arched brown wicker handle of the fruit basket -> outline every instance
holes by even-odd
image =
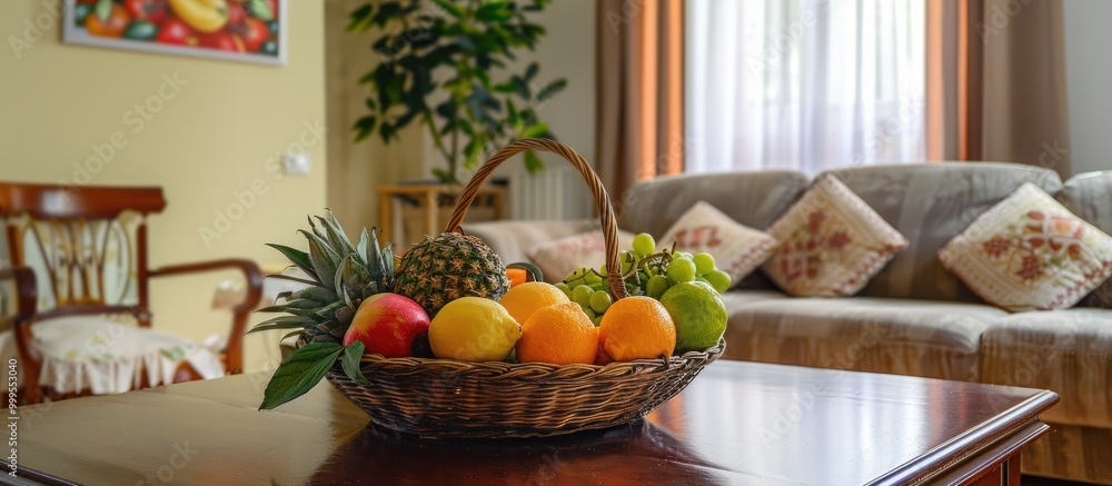
[[[471,180],[467,182],[467,187],[464,188],[463,194],[459,196],[459,200],[456,202],[455,209],[451,211],[451,219],[448,220],[448,227],[445,231],[463,232],[459,225],[464,221],[464,216],[467,216],[467,208],[471,206],[475,195],[478,192],[479,187],[483,186],[486,178],[489,177],[490,172],[494,172],[494,169],[502,165],[502,162],[525,150],[546,150],[554,152],[563,157],[579,170],[579,175],[583,176],[583,180],[587,182],[587,186],[590,188],[590,194],[595,197],[595,210],[598,212],[603,222],[603,239],[606,244],[607,286],[609,287],[610,294],[614,295],[615,299],[629,297],[629,292],[627,292],[625,288],[625,281],[622,280],[622,266],[618,264],[618,227],[614,218],[614,207],[610,206],[610,197],[606,194],[606,188],[603,187],[603,182],[598,180],[598,176],[590,169],[590,165],[584,160],[583,156],[570,147],[556,140],[547,138],[523,138],[504,147],[502,150],[498,150],[494,157],[490,157],[490,160],[487,160],[483,167],[479,167],[479,170],[475,172],[475,177],[471,177]]]

